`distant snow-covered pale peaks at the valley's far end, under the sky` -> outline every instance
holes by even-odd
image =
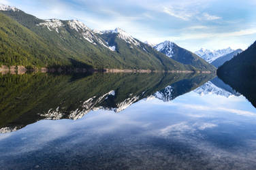
[[[234,50],[231,48],[226,48],[223,50],[207,50],[207,49],[201,48],[200,50],[196,51],[195,54],[203,58],[208,63],[212,63],[212,61],[216,60],[217,58],[221,56],[225,56],[231,52],[234,52]]]

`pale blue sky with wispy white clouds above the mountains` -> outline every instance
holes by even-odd
[[[119,27],[151,44],[174,41],[195,52],[256,40],[256,0],[0,0],[37,18],[77,19],[91,29]]]

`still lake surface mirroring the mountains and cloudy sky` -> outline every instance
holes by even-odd
[[[0,169],[255,169],[256,109],[215,75],[0,75]]]

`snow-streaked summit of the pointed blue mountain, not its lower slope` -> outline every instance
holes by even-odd
[[[175,45],[176,44],[174,44],[174,42],[172,42],[172,41],[164,41],[160,44],[157,44],[157,46],[155,46],[154,48],[157,51],[162,52],[166,56],[173,57]]]

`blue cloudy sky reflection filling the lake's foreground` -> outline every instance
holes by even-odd
[[[2,134],[0,168],[254,169],[255,120],[242,95],[150,95],[120,114],[98,109]]]

